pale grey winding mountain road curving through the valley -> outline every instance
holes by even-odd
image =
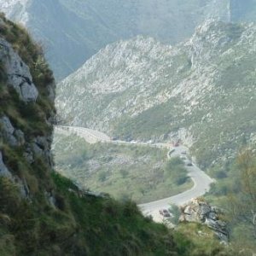
[[[179,157],[183,151],[188,151],[188,148],[181,145],[176,148],[172,148],[171,143],[140,143],[140,142],[124,142],[124,141],[118,141],[118,140],[112,140],[110,137],[108,137],[106,134],[100,132],[100,131],[94,131],[90,130],[84,127],[77,127],[77,126],[55,126],[55,132],[70,135],[72,133],[75,133],[79,137],[83,137],[84,140],[88,143],[118,143],[118,144],[137,144],[137,145],[148,145],[155,148],[168,148],[168,154],[167,157]],[[188,160],[185,160],[185,164]],[[194,182],[194,186],[192,189],[189,189],[187,191],[184,191],[183,193],[180,193],[178,195],[173,195],[171,197],[167,197],[158,201],[151,201],[148,203],[140,204],[138,207],[140,207],[141,211],[144,215],[151,215],[154,221],[156,222],[163,222],[164,218],[162,215],[160,215],[159,211],[160,209],[166,209],[170,207],[170,204],[175,204],[177,206],[182,206],[186,202],[190,201],[193,198],[199,197],[201,195],[204,195],[209,189],[211,183],[213,183],[213,179],[201,169],[195,165],[195,163],[192,164],[192,166],[185,166],[188,171],[188,176],[191,177],[191,179]]]

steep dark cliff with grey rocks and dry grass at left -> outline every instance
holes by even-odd
[[[2,15],[0,64],[0,177],[15,183],[20,197],[31,199],[44,182],[38,169],[42,175],[54,165],[55,81],[38,45]],[[39,91],[44,104],[38,102]]]

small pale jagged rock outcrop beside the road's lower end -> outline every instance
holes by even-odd
[[[218,207],[211,207],[206,201],[194,199],[181,207],[180,222],[196,222],[205,224],[218,236],[219,240],[228,242],[229,231],[227,223],[219,219],[222,210]]]

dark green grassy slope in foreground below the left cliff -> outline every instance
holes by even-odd
[[[18,188],[0,178],[1,212],[9,219],[3,224],[0,216],[1,255],[169,255],[175,251],[171,231],[143,218],[135,203],[81,197],[66,178],[55,173],[51,178],[56,209],[46,201],[38,205],[20,200]]]

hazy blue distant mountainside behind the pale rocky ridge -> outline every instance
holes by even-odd
[[[1,10],[44,42],[58,79],[107,44],[139,34],[162,42],[188,38],[208,17],[230,19],[229,0],[1,0]]]

